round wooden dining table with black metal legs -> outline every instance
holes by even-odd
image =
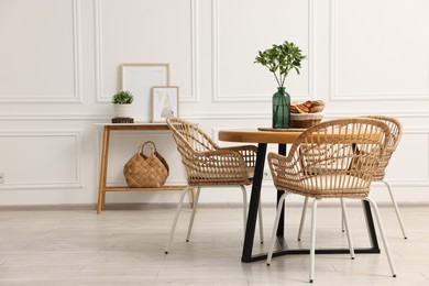
[[[219,131],[219,140],[226,142],[241,142],[241,143],[257,143],[256,164],[252,183],[251,200],[249,205],[248,223],[245,229],[245,237],[243,243],[243,252],[241,256],[242,262],[253,262],[266,258],[266,253],[252,254],[254,233],[256,228],[256,218],[261,198],[261,187],[264,175],[264,165],[266,157],[267,144],[278,144],[278,154],[286,155],[286,144],[294,143],[295,140],[305,131],[305,129],[226,129]],[[283,191],[277,190],[277,201]],[[355,249],[355,253],[380,253],[377,243],[377,237],[375,232],[374,221],[371,213],[371,207],[367,201],[363,201],[364,213],[366,218],[366,227],[370,238],[370,248]],[[280,250],[274,252],[274,256],[286,254],[308,254],[309,250],[304,249],[287,249],[285,241],[284,229],[284,210],[280,216],[280,220],[277,229],[277,240],[279,245],[283,245]],[[349,253],[349,249],[320,249],[316,250],[316,253],[320,254],[337,254]]]

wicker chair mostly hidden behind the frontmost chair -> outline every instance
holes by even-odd
[[[395,209],[395,213],[396,213],[396,217],[398,219],[400,230],[403,232],[403,237],[404,237],[404,239],[407,239],[407,234],[405,232],[403,217],[400,215],[398,205],[397,205],[397,202],[395,200],[395,197],[394,197],[394,195],[392,193],[391,185],[388,184],[387,180],[384,179],[385,172],[386,172],[386,168],[388,166],[388,163],[391,162],[392,155],[395,153],[395,151],[396,151],[396,148],[397,148],[397,146],[399,144],[399,141],[400,141],[400,139],[403,136],[403,124],[396,118],[386,117],[386,116],[366,116],[365,118],[372,118],[372,119],[381,120],[384,123],[386,123],[388,125],[389,130],[391,130],[391,139],[388,141],[387,147],[383,152],[383,155],[382,155],[382,157],[381,157],[381,160],[378,162],[378,167],[375,170],[375,174],[373,176],[373,182],[381,182],[381,183],[383,183],[387,187],[387,190],[388,190],[388,194],[389,194],[389,197],[391,197],[391,200],[392,200],[392,205],[393,205],[393,207]],[[308,199],[306,199],[304,201],[304,206],[302,206],[301,220],[300,220],[299,230],[298,230],[298,241],[300,241],[301,234],[302,234],[302,227],[304,227],[307,205],[308,205]],[[341,222],[342,222],[342,227],[344,227],[343,220]],[[342,229],[344,230],[344,228],[342,228]]]

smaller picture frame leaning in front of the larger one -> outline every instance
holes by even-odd
[[[155,86],[152,88],[152,122],[165,122],[178,117],[178,87]]]

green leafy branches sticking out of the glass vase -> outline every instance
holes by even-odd
[[[273,45],[263,52],[258,51],[254,63],[266,66],[274,74],[278,87],[284,87],[290,70],[295,69],[299,75],[301,61],[305,58],[297,45],[285,41],[280,45]]]

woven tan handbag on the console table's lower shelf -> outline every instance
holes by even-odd
[[[147,147],[151,152],[144,154]],[[155,143],[146,141],[139,146],[135,153],[123,166],[123,175],[129,187],[132,188],[160,188],[168,177],[167,162],[156,151]]]

